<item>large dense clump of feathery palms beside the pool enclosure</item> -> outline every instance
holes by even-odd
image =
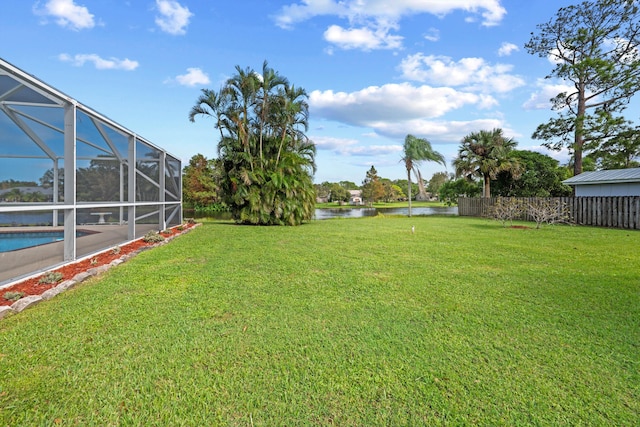
[[[236,66],[218,91],[203,90],[189,120],[213,117],[220,132],[220,191],[237,223],[299,225],[314,214],[316,148],[306,136],[304,89],[266,62]]]

